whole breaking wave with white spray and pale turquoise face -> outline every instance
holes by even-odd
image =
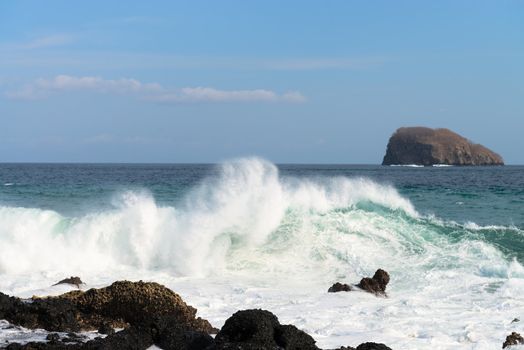
[[[2,207],[0,271],[130,266],[177,276],[246,270],[332,279],[377,264],[401,274],[406,263],[471,273],[486,260],[509,264],[485,242],[443,234],[454,224],[420,217],[393,187],[369,179],[281,177],[257,158],[224,163],[218,174],[176,206],[159,206],[143,190],[115,195],[111,210],[73,218]],[[452,230],[467,237],[471,227]]]

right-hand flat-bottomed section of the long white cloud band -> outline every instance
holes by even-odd
[[[159,102],[304,102],[299,92],[278,95],[271,90],[218,90],[209,87],[188,87],[178,92],[160,94],[149,99]]]

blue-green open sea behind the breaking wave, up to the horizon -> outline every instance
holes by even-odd
[[[391,185],[424,217],[447,222],[434,227],[442,235],[484,240],[524,261],[523,166],[311,164],[278,165],[278,170],[290,182],[322,183],[342,177]],[[219,172],[219,166],[207,164],[1,164],[0,205],[53,210],[74,218],[115,208],[118,193],[145,191],[158,205],[176,207]]]

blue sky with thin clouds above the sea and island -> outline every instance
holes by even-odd
[[[524,1],[0,1],[0,162],[524,164]]]

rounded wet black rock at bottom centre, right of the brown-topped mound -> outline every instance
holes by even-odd
[[[215,337],[216,349],[318,349],[315,340],[295,326],[281,325],[266,310],[243,310],[231,316]]]

